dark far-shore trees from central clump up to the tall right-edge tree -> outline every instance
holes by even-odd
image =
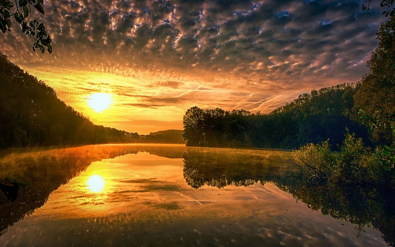
[[[367,141],[367,129],[353,121],[355,84],[313,90],[270,114],[193,107],[184,115],[188,146],[296,148],[330,138],[336,148],[345,128]]]

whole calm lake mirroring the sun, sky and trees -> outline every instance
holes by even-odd
[[[394,196],[289,152],[112,144],[0,158],[0,246],[387,246]]]

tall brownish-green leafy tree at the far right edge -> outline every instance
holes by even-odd
[[[395,141],[395,15],[381,25],[378,47],[368,62],[370,73],[359,83],[354,110],[373,131],[376,142]]]

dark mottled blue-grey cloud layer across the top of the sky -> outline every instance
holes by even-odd
[[[285,81],[325,66],[329,74],[347,70],[360,60],[357,54],[374,49],[372,35],[382,20],[378,12],[361,12],[359,1],[52,0],[46,8],[57,57],[67,52],[66,60],[75,66],[108,68],[128,61],[134,68],[195,66],[237,76],[251,72],[250,64],[259,61],[261,74]],[[370,39],[362,39],[365,35]],[[337,51],[350,63],[332,66]],[[290,68],[309,64],[324,52],[332,55],[316,70]]]

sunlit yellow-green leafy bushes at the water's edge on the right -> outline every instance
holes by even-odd
[[[312,177],[331,184],[379,184],[395,189],[394,167],[383,160],[384,151],[365,147],[361,138],[347,133],[339,152],[331,152],[328,142],[307,144],[292,151],[297,164],[307,167]],[[386,151],[388,152],[388,150]],[[384,155],[388,158],[388,155]],[[393,160],[392,160],[393,162]]]

